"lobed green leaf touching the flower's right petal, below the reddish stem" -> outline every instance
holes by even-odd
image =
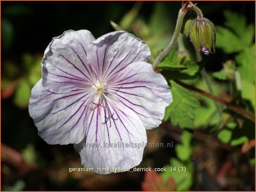
[[[170,83],[173,102],[170,104],[170,109],[167,110],[170,114],[166,115],[165,119],[169,116],[175,126],[194,128],[194,108],[199,107],[200,103],[187,89],[174,81],[170,81]]]

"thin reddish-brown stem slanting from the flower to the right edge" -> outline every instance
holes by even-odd
[[[246,111],[245,109],[242,109],[240,107],[234,106],[234,105],[230,104],[229,102],[227,102],[227,101],[225,101],[225,100],[223,100],[223,99],[221,99],[219,97],[216,97],[216,96],[214,96],[214,95],[212,95],[212,94],[210,94],[208,92],[205,92],[203,90],[195,88],[195,87],[193,87],[191,85],[187,85],[187,84],[185,84],[185,83],[183,83],[181,81],[175,80],[175,82],[178,83],[179,85],[181,85],[184,88],[187,88],[189,90],[198,92],[199,94],[204,95],[204,96],[206,96],[206,97],[208,97],[208,98],[210,98],[210,99],[212,99],[212,100],[214,100],[216,102],[224,104],[228,109],[230,109],[230,110],[232,110],[232,111],[234,111],[236,113],[239,113],[242,116],[244,116],[244,117],[246,117],[248,119],[251,119],[252,121],[255,122],[255,115],[251,114],[250,112]]]

